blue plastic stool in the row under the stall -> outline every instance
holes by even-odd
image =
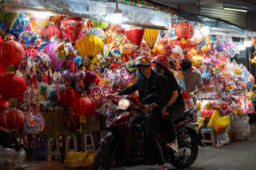
[[[38,140],[43,140],[43,150],[37,150]],[[45,160],[48,161],[48,137],[46,135],[36,135],[35,137],[35,148],[34,148],[34,157],[36,160],[36,156],[45,156]]]

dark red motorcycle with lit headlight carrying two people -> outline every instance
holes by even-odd
[[[143,110],[143,101],[156,97],[158,97],[156,93],[150,94],[139,103],[129,95],[113,95],[112,102],[118,107],[106,119],[107,131],[99,141],[100,146],[95,154],[92,170],[156,164],[150,146],[144,142],[143,128],[137,124],[129,125],[133,110]],[[165,162],[171,163],[176,168],[191,166],[198,155],[198,145],[205,147],[202,142],[204,137],[196,129],[198,124],[192,124],[197,110],[185,110],[183,115],[173,122],[179,146],[177,153],[165,147],[168,139],[164,130],[160,130],[157,135]]]

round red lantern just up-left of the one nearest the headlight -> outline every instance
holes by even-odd
[[[60,104],[66,108],[73,106],[76,99],[81,97],[81,93],[73,88],[66,88],[60,95]]]

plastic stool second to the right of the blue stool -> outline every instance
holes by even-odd
[[[63,144],[65,143],[65,146],[63,148],[65,149],[63,151],[63,158],[67,158],[67,153],[70,151],[77,152],[77,141],[76,141],[76,134],[71,133],[68,135],[65,135],[63,137]]]

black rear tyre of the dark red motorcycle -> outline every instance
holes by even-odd
[[[195,159],[198,156],[198,142],[191,133],[187,132],[186,134],[188,134],[191,139],[191,148],[189,148],[191,150],[191,155],[189,156],[188,159],[184,161],[175,160],[174,162],[171,162],[171,165],[174,166],[175,168],[188,168],[195,162]]]

